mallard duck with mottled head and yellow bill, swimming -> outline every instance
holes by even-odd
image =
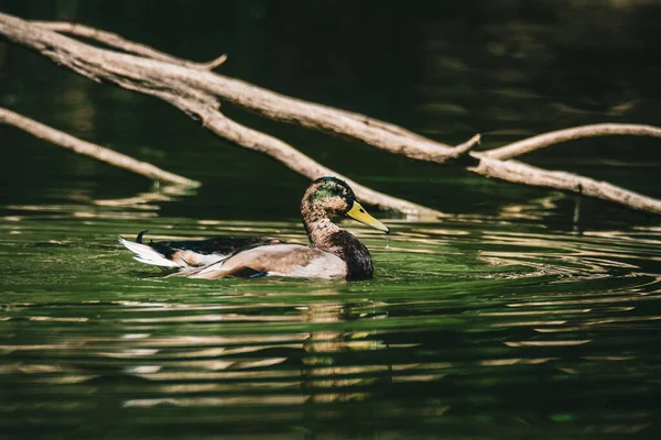
[[[373,275],[371,256],[360,241],[340,229],[334,219],[347,216],[389,233],[356,200],[346,182],[322,177],[312,183],[301,200],[301,217],[310,245],[270,238],[221,237],[197,241],[119,242],[141,263],[175,270],[174,276],[224,278],[291,276],[302,278],[367,279]]]

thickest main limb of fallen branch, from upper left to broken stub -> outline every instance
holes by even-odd
[[[0,13],[0,33],[95,80],[123,78],[122,87],[131,81],[149,81],[155,89],[186,86],[188,92],[195,90],[195,95],[204,95],[206,100],[219,97],[278,121],[348,136],[412,158],[444,163],[455,155],[448,145],[411,135],[411,132],[394,129],[386,122],[285,97],[238,79],[191,69],[181,63],[175,65],[101,50],[11,15]]]

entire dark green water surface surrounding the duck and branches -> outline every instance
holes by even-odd
[[[659,125],[657,1],[9,1],[223,74],[484,147],[598,122]],[[155,99],[0,43],[0,105],[201,180],[150,182],[0,127],[0,439],[658,438],[658,217],[487,180],[262,120],[356,180],[453,213],[346,223],[364,283],[163,279],[116,244],[267,234],[304,242],[306,180]],[[658,140],[525,161],[661,197]],[[162,188],[161,188],[162,190]],[[153,195],[152,194],[152,195]]]

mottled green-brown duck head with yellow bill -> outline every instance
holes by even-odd
[[[360,206],[347,183],[336,177],[319,177],[310,185],[301,201],[301,213],[306,227],[316,221],[350,217],[379,231],[390,232]]]

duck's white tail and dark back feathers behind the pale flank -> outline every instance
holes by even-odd
[[[176,240],[142,242],[147,231],[138,234],[136,242],[119,238],[119,243],[133,252],[133,258],[145,264],[170,268],[205,267],[223,261],[237,252],[283,243],[263,237],[217,237],[207,240]]]

